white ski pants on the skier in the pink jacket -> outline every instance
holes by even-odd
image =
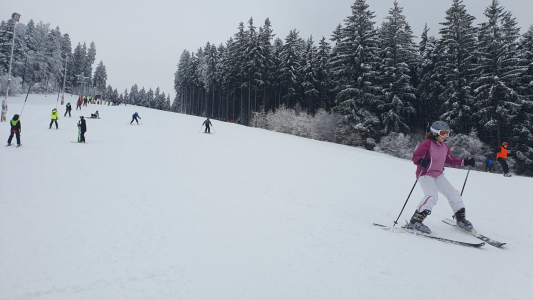
[[[448,179],[444,177],[444,174],[437,178],[427,175],[420,176],[418,183],[424,191],[424,197],[417,206],[418,212],[423,212],[426,209],[433,210],[433,206],[439,200],[439,192],[448,199],[448,203],[450,203],[454,213],[465,207],[461,194],[453,188]]]

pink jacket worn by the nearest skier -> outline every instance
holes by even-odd
[[[418,165],[417,162],[424,157],[429,157],[429,165],[422,171],[422,166]],[[464,165],[464,160],[453,157],[448,144],[433,139],[426,139],[418,145],[415,153],[413,153],[413,163],[416,165],[417,176],[422,171],[420,176],[429,175],[437,178],[444,172],[444,164],[462,166]]]

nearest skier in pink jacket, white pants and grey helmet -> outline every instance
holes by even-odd
[[[424,191],[424,197],[407,225],[408,229],[431,234],[431,230],[422,222],[431,214],[433,206],[437,204],[439,192],[448,199],[455,213],[457,226],[468,231],[474,228],[465,219],[465,206],[461,194],[444,177],[443,171],[445,163],[450,166],[475,167],[476,162],[473,158],[461,159],[453,157],[450,148],[445,143],[446,138],[449,136],[450,127],[448,124],[443,121],[436,121],[431,125],[431,132],[426,134],[426,140],[420,143],[413,153],[413,163],[417,165],[416,174],[420,176],[418,182]]]

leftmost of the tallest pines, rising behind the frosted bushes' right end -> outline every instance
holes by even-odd
[[[356,0],[352,15],[344,21],[340,40],[333,48],[332,77],[336,92],[336,110],[352,128],[361,132],[365,145],[373,148],[380,129],[378,114],[380,93],[373,81],[377,76],[378,36],[375,17],[365,0]]]

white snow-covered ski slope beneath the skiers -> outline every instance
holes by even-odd
[[[372,226],[396,219],[410,161],[216,120],[208,135],[203,118],[136,106],[60,106],[48,129],[56,100],[30,95],[23,146],[0,148],[2,300],[531,299],[531,178],[470,172],[467,218],[507,245],[467,248]],[[446,170],[459,190],[466,174]],[[441,198],[425,223],[480,242],[451,214]]]

